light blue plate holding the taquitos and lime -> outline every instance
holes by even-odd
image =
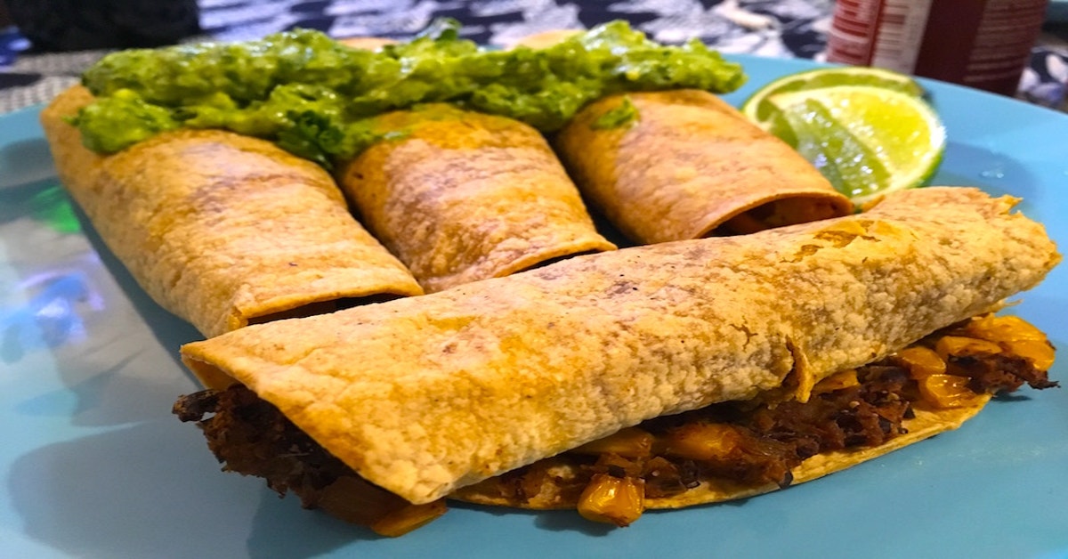
[[[737,57],[759,84],[802,61]],[[925,81],[948,128],[937,183],[1024,199],[1068,246],[1068,117]],[[195,389],[188,325],[153,304],[74,213],[36,111],[0,118],[0,557],[1064,557],[1068,389],[992,403],[958,431],[740,502],[645,514],[454,506],[376,538],[219,471],[171,416]],[[1014,312],[1068,347],[1068,266]],[[1062,360],[1051,375],[1068,383]]]

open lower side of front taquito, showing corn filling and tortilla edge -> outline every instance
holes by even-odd
[[[797,485],[960,426],[994,394],[1058,386],[1054,347],[1017,316],[983,314],[886,358],[845,369],[806,401],[724,402],[644,421],[450,497],[578,509],[618,526],[645,509],[720,502]]]

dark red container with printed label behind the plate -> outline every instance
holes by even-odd
[[[837,0],[827,60],[1012,95],[1049,0]]]

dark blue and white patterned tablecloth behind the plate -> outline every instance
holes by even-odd
[[[724,52],[820,59],[831,0],[200,0],[201,35],[185,41],[256,38],[296,27],[335,37],[405,38],[436,17],[453,17],[467,37],[503,45],[538,31],[627,19],[657,41],[700,37]],[[44,103],[78,81],[106,51],[37,53],[14,28],[0,32],[0,112]],[[1036,46],[1019,96],[1058,106],[1068,48]],[[1063,107],[1063,106],[1062,106]]]

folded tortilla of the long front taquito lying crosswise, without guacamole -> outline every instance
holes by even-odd
[[[619,429],[884,357],[1037,284],[1059,254],[973,188],[753,235],[576,257],[182,348],[411,502]]]

